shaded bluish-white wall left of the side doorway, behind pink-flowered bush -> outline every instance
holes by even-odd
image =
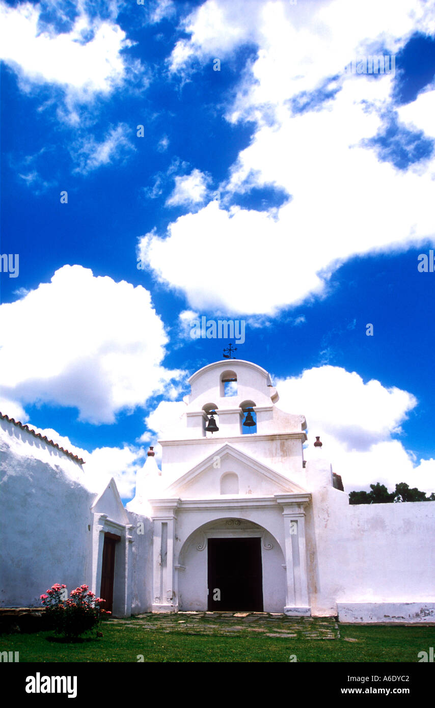
[[[91,503],[78,462],[0,421],[1,607],[40,606],[53,583],[90,583]]]

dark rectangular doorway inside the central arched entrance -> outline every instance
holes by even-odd
[[[261,539],[208,539],[208,610],[263,612]]]

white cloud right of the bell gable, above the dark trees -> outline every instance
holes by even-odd
[[[402,481],[426,493],[435,491],[435,460],[415,465],[413,453],[392,438],[417,406],[412,394],[375,380],[364,384],[356,372],[333,366],[277,380],[276,387],[278,407],[307,418],[305,459],[329,459],[345,491],[369,490],[378,481],[389,491]],[[323,443],[320,452],[313,445],[316,435]]]

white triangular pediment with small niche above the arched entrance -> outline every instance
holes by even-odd
[[[227,477],[225,485],[224,476]],[[237,484],[238,493],[235,491]],[[305,489],[266,464],[259,462],[228,442],[162,491],[162,496],[180,498],[218,498],[225,496],[272,496],[277,493],[303,493]]]

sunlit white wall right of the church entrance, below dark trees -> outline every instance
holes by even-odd
[[[393,615],[402,616],[405,604],[434,607],[435,503],[349,505],[347,494],[329,486],[329,474],[324,461],[307,463],[312,614],[337,615],[337,603],[358,605],[358,621],[390,622]],[[383,603],[388,604],[384,619]]]

